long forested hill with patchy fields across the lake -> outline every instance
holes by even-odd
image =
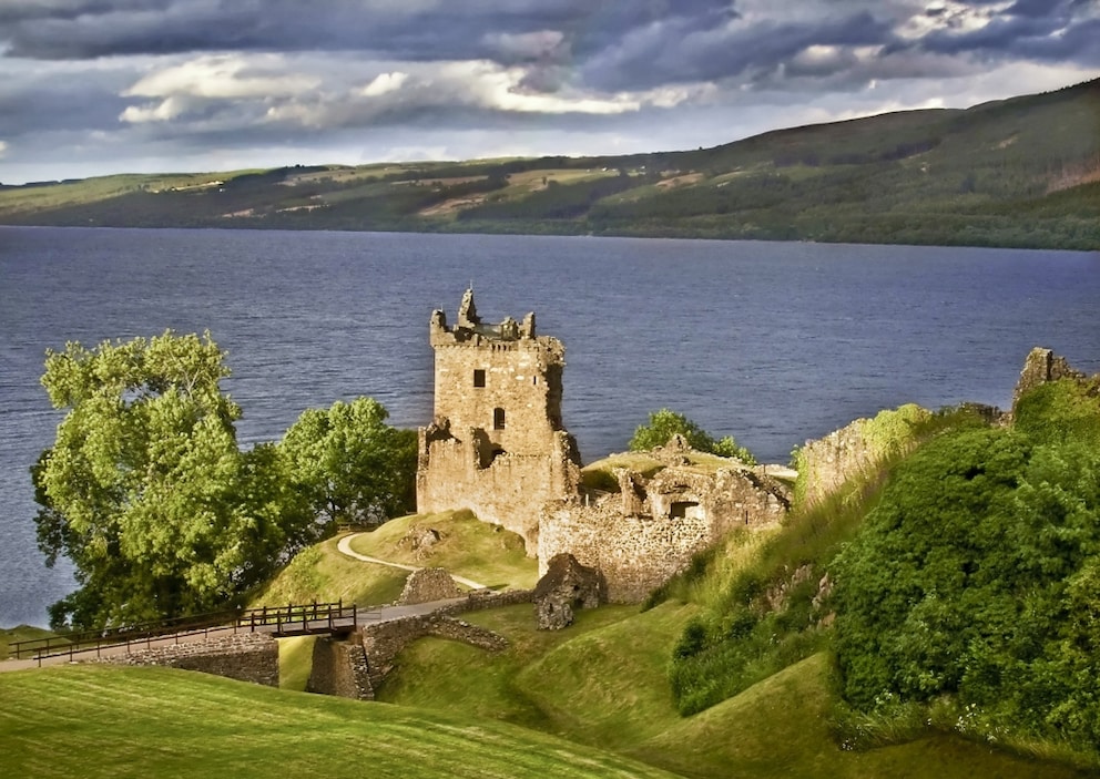
[[[0,186],[0,224],[1100,249],[1100,79],[693,152]]]

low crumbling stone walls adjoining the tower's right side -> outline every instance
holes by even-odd
[[[603,574],[609,601],[638,603],[734,527],[772,525],[790,506],[784,486],[750,470],[673,467],[620,483],[631,489],[544,506],[540,574],[569,553]]]

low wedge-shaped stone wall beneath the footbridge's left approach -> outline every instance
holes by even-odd
[[[156,665],[278,687],[278,644],[265,633],[237,633],[103,658],[118,665]]]

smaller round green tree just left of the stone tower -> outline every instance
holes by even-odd
[[[416,431],[389,427],[388,416],[373,398],[357,398],[309,409],[286,431],[278,449],[318,532],[415,509]]]

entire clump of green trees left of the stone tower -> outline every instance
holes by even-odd
[[[241,409],[220,388],[228,373],[210,334],[48,352],[42,383],[67,413],[31,469],[35,524],[48,564],[69,557],[80,585],[51,606],[51,624],[222,607],[329,520],[355,510],[377,517],[398,505],[395,495],[407,498],[409,433],[383,426],[375,401],[307,412],[283,444],[242,452]]]

